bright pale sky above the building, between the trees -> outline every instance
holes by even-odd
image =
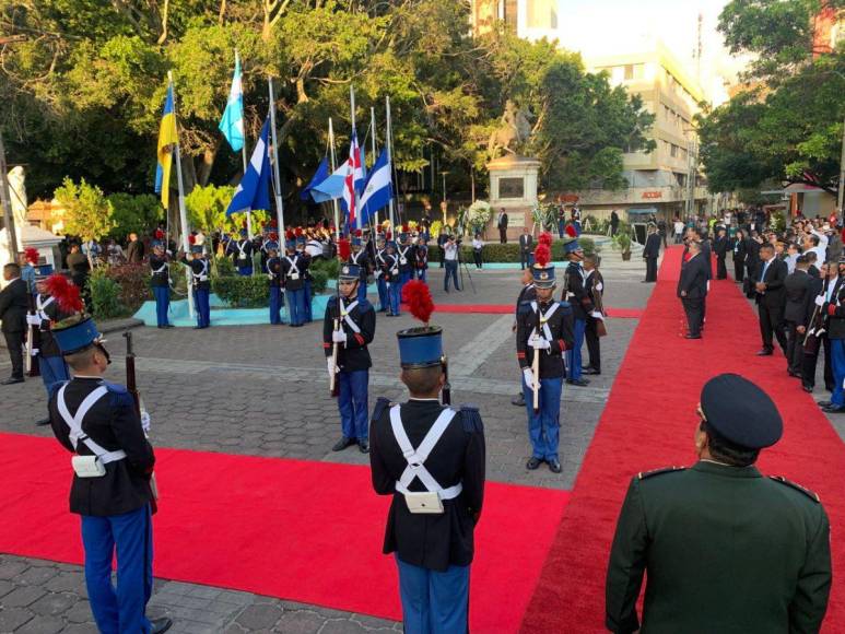
[[[694,78],[701,13],[701,84],[707,97],[718,104],[727,98],[723,78],[735,79],[748,62],[730,56],[716,30],[725,4],[727,0],[559,0],[561,44],[590,57],[641,50],[657,38]]]

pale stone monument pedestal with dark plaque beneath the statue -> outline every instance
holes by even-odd
[[[486,165],[490,173],[490,206],[493,219],[485,232],[485,239],[498,240],[496,219],[504,208],[507,213],[507,239],[517,239],[523,227],[532,224],[531,209],[537,204],[537,177],[540,162],[537,158],[508,154]]]

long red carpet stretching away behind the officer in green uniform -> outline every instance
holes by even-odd
[[[845,570],[845,445],[799,381],[787,376],[783,356],[754,355],[760,349],[756,317],[732,280],[712,284],[704,340],[679,337],[680,255],[680,247],[670,248],[664,258],[521,630],[605,631],[605,573],[631,477],[694,462],[701,387],[713,375],[735,372],[772,395],[784,416],[784,437],[763,451],[761,470],[818,492],[831,517],[834,584],[823,632],[845,632],[845,582],[836,577]]]

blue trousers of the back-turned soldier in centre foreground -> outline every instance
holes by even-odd
[[[469,566],[449,566],[438,572],[395,559],[404,633],[466,634],[469,631]]]

